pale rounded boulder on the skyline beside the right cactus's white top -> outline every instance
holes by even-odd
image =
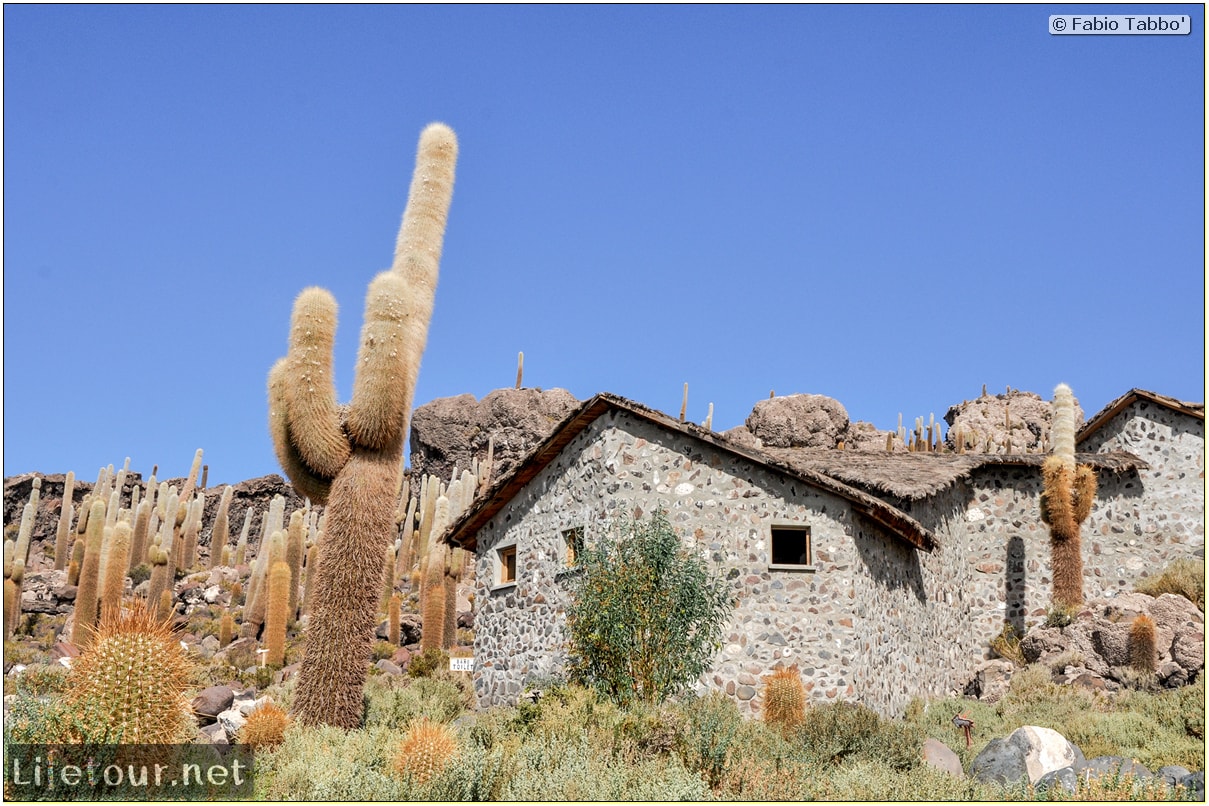
[[[991,453],[1005,452],[1008,436],[1012,451],[1037,451],[1049,439],[1053,406],[1032,392],[1011,389],[1001,395],[982,395],[950,406],[944,414],[949,424],[944,437],[948,447],[956,450],[956,437],[965,435],[966,445],[983,451],[990,441]],[[1083,423],[1083,410],[1075,402],[1075,427]]]

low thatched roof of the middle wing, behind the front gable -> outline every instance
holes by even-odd
[[[910,453],[904,451],[835,451],[828,448],[760,448],[780,464],[809,468],[875,494],[906,500],[930,498],[978,468],[1023,465],[1040,468],[1041,453]],[[1132,453],[1080,453],[1080,464],[1122,472],[1146,468]]]

